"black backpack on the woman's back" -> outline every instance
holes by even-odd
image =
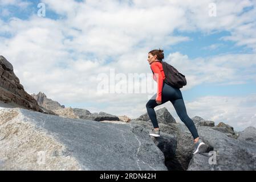
[[[162,63],[162,69],[164,69],[165,79],[164,82],[170,86],[174,86],[178,89],[186,85],[185,75],[182,75],[172,65],[165,61],[159,61]],[[152,71],[153,72],[153,71]]]

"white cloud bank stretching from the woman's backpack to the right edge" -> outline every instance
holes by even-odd
[[[166,60],[187,78],[184,90],[203,83],[231,84],[254,80],[255,54],[229,54],[213,57],[198,57],[190,60],[179,52],[170,53]]]

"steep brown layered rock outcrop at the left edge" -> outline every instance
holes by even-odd
[[[0,101],[43,112],[36,100],[24,90],[14,73],[13,65],[3,56],[0,56]]]

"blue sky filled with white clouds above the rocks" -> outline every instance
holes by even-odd
[[[249,0],[0,0],[0,54],[29,94],[137,118],[156,90],[119,92],[118,84],[145,88],[148,52],[162,48],[187,78],[188,115],[241,131],[256,127],[255,7]],[[129,81],[136,74],[141,79]],[[161,107],[181,122],[170,102]]]

